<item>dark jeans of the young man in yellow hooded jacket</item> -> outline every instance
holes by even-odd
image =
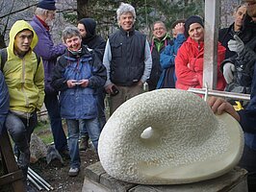
[[[17,151],[17,165],[22,170],[24,179],[27,178],[28,166],[30,163],[30,140],[31,134],[38,123],[37,112],[27,120],[19,117],[12,112],[7,115],[6,128],[13,138]]]

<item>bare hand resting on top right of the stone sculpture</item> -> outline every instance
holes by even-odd
[[[229,113],[237,121],[240,121],[239,113],[233,108],[231,104],[219,97],[209,97],[207,104],[212,108],[213,112],[220,115],[223,112]]]

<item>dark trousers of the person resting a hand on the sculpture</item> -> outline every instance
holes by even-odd
[[[248,171],[248,192],[256,191],[256,151],[244,145],[243,156],[239,166]]]

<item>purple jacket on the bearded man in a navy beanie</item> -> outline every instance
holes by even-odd
[[[49,31],[43,27],[37,16],[33,17],[30,24],[38,35],[38,44],[35,47],[34,52],[42,58],[45,78],[44,91],[46,94],[55,93],[55,89],[50,85],[52,81],[52,72],[57,62],[57,58],[64,54],[66,47],[64,44],[54,45]]]

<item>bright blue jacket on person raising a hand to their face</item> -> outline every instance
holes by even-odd
[[[160,55],[160,63],[163,69],[159,78],[157,88],[175,88],[176,76],[175,76],[175,63],[178,49],[182,43],[186,40],[183,34],[179,34],[177,38],[174,38],[173,44],[168,44],[166,49]]]

